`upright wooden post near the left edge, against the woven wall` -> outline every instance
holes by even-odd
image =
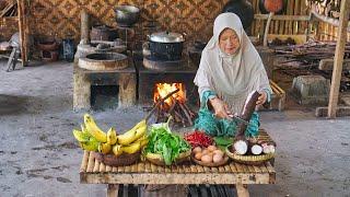
[[[27,40],[26,40],[26,28],[25,28],[25,2],[24,0],[18,0],[18,11],[19,11],[19,32],[20,32],[20,43],[21,43],[21,58],[22,66],[26,66],[27,62]]]

